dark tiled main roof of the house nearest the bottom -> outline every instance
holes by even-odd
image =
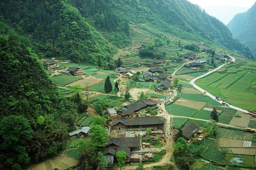
[[[108,145],[115,144],[117,146],[122,146],[125,144],[129,148],[140,147],[140,137],[131,137],[131,138],[111,138],[108,140]]]

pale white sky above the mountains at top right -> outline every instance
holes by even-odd
[[[192,4],[198,4],[201,8],[205,6],[241,6],[251,8],[255,0],[188,0]]]

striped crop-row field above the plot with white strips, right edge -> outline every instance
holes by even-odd
[[[224,137],[229,139],[240,139],[240,140],[252,140],[253,133],[246,132],[243,130],[219,128],[218,137]]]

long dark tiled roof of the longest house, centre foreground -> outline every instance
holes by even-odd
[[[119,117],[112,120],[111,126],[123,122],[126,126],[133,125],[152,125],[152,124],[163,124],[165,123],[164,118],[160,116],[148,116],[148,117]]]

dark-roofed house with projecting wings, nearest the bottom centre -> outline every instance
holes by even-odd
[[[132,138],[111,138],[108,140],[106,149],[103,151],[105,156],[105,166],[108,165],[108,162],[116,163],[116,153],[118,151],[126,152],[126,162],[130,161],[130,153],[134,150],[141,150],[141,140],[140,137]]]

